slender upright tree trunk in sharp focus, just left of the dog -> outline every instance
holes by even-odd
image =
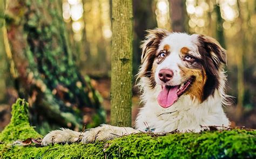
[[[112,1],[111,124],[131,126],[132,0]]]

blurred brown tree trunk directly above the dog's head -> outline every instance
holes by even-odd
[[[173,32],[188,31],[185,0],[170,0],[170,18]]]

